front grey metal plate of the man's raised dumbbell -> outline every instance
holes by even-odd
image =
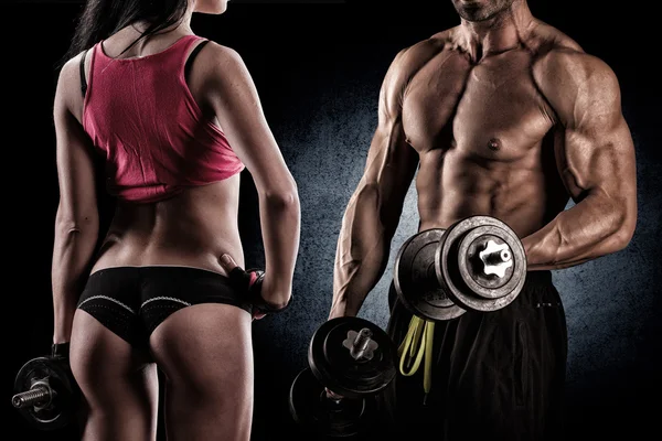
[[[484,256],[488,245],[506,251],[509,260],[489,265]],[[437,248],[435,270],[455,303],[491,312],[505,308],[519,295],[526,278],[526,258],[517,235],[505,223],[490,216],[471,216],[447,229]]]

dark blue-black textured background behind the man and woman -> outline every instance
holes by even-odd
[[[76,3],[19,3],[2,12],[2,218],[9,257],[3,275],[10,299],[4,309],[10,316],[6,338],[11,342],[2,409],[10,417],[6,430],[18,430],[8,439],[75,439],[66,430],[35,432],[10,405],[13,375],[50,345],[50,263],[57,204],[51,117],[54,64],[67,49],[79,8]],[[450,0],[407,2],[406,7],[405,2],[373,4],[363,10],[354,2],[241,3],[231,1],[221,17],[194,17],[193,29],[243,55],[299,184],[302,230],[295,302],[281,315],[254,325],[254,439],[305,439],[288,415],[287,392],[306,366],[312,332],[329,311],[341,217],[375,129],[382,78],[397,51],[455,25],[458,19]],[[659,71],[650,62],[658,45],[655,30],[641,4],[638,10],[628,10],[629,3],[600,8],[605,3],[599,1],[533,0],[530,4],[535,15],[615,69],[634,137],[639,223],[632,243],[616,255],[554,272],[568,321],[573,439],[579,434],[634,439],[654,431],[661,410],[660,94],[654,83]],[[256,245],[260,240],[257,204],[247,173],[244,180],[242,235],[248,266],[259,266],[264,257]],[[399,244],[416,232],[415,207],[416,195],[410,191],[392,261]],[[391,267],[360,314],[381,326],[387,321],[389,278]]]

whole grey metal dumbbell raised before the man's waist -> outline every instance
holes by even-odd
[[[525,276],[517,235],[500,219],[471,216],[407,239],[396,257],[394,284],[413,314],[445,321],[467,310],[505,308],[519,295]]]

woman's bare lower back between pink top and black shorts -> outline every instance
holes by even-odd
[[[93,272],[108,267],[186,266],[224,273],[228,252],[244,265],[237,225],[239,175],[164,201],[118,202]]]

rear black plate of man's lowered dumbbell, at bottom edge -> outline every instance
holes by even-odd
[[[290,387],[289,410],[302,428],[325,437],[344,438],[365,432],[378,415],[374,395],[360,399],[327,397],[312,370],[301,370]]]

